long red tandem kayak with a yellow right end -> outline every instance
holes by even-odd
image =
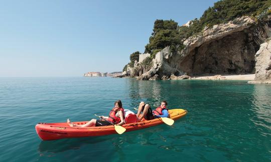
[[[176,120],[186,115],[185,109],[170,109],[170,118]],[[76,124],[85,124],[87,121],[75,121]],[[143,129],[158,124],[162,124],[161,118],[155,118],[152,120],[143,120],[134,123],[123,124],[126,131]],[[36,125],[36,131],[42,140],[54,140],[62,138],[75,138],[75,137],[87,137],[87,136],[102,136],[108,134],[115,134],[115,128],[113,125],[108,126],[92,126],[92,127],[71,127],[67,122],[57,123],[38,123]]]

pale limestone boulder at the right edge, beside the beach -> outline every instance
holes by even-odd
[[[271,83],[271,40],[260,45],[255,60],[255,79],[249,83]]]

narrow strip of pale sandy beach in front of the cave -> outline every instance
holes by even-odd
[[[192,79],[254,80],[255,74],[192,76]]]

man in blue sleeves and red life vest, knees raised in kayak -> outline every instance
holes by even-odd
[[[168,117],[169,111],[167,109],[167,105],[168,102],[166,100],[163,100],[161,102],[161,105],[152,111],[152,108],[150,107],[149,104],[145,104],[145,102],[140,102],[137,117],[139,118],[140,121],[143,119],[143,117],[147,120],[151,120],[158,117]],[[140,116],[141,112],[142,115]]]

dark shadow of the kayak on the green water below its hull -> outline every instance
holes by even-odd
[[[107,145],[115,148],[115,151],[119,151],[117,148],[123,147],[123,145],[141,144],[141,145],[154,145],[151,142],[150,136],[154,132],[163,131],[166,127],[147,128],[143,130],[136,130],[131,132],[125,132],[122,135],[112,134],[97,137],[81,137],[81,138],[66,138],[59,140],[43,140],[40,142],[38,151],[42,155],[44,153],[58,153],[67,150],[79,150],[85,146],[100,145],[106,147]]]

